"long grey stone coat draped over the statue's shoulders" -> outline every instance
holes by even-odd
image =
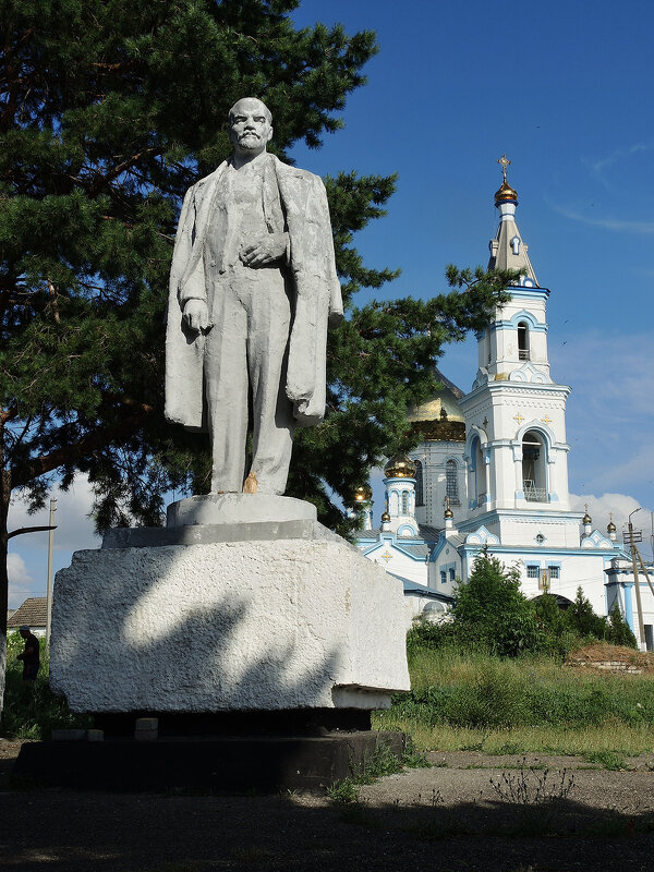
[[[340,282],[325,185],[319,177],[268,155],[290,239],[288,262],[293,282],[293,320],[289,338],[286,392],[299,426],[317,424],[325,414],[327,327],[342,318]],[[203,334],[186,329],[183,300],[206,300],[204,250],[215,194],[227,161],[189,189],[178,225],[168,301],[166,336],[166,417],[205,429]],[[183,300],[180,295],[183,294]],[[215,325],[213,329],[220,329]]]

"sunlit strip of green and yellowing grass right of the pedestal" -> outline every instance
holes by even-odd
[[[419,651],[410,668],[411,694],[398,694],[374,725],[409,732],[422,751],[594,754],[597,762],[654,753],[654,675],[451,649]]]

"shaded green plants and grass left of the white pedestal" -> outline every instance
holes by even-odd
[[[75,715],[65,700],[56,697],[48,686],[48,656],[45,640],[40,644],[40,669],[34,686],[23,686],[23,663],[16,659],[24,650],[25,641],[19,632],[7,638],[7,678],[4,708],[2,711],[2,735],[20,739],[49,740],[53,729],[92,726],[88,715]]]

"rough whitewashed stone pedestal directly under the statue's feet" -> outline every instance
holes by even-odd
[[[387,706],[409,689],[401,582],[314,512],[194,497],[77,552],[55,582],[52,689],[98,713]]]

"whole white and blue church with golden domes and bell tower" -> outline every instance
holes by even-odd
[[[404,582],[408,621],[447,611],[457,583],[487,548],[517,566],[523,593],[544,591],[565,606],[582,588],[598,615],[618,602],[632,629],[633,573],[613,521],[606,532],[570,510],[566,401],[547,354],[549,289],[538,284],[516,223],[518,194],[504,180],[495,194],[499,227],[489,268],[519,270],[491,325],[477,334],[477,370],[468,393],[441,373],[443,389],[409,414],[421,443],[385,468],[386,511],[373,529],[370,492],[358,494],[365,530],[358,545]],[[645,637],[654,596],[641,576]],[[644,640],[643,640],[644,641]]]

